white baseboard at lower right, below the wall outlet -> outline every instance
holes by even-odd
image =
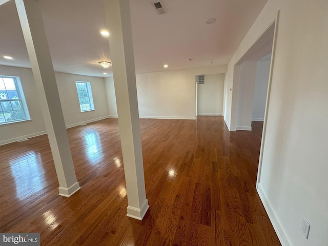
[[[258,183],[258,186],[257,186],[257,193],[263,203],[265,211],[267,211],[269,219],[272,223],[273,228],[275,229],[275,232],[277,233],[280,243],[283,246],[293,246],[293,243],[289,239],[287,232],[285,231],[284,227],[282,226],[282,223],[279,220],[277,213],[275,212],[270,200],[265,195],[265,192],[263,191],[260,183]]]

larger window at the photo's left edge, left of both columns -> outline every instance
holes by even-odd
[[[30,119],[19,77],[0,75],[0,125]]]

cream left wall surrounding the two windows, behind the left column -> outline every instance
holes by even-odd
[[[0,74],[18,76],[24,90],[31,120],[8,125],[0,125],[0,145],[46,133],[45,124],[38,96],[34,85],[31,69],[0,66]],[[108,117],[107,98],[103,78],[55,73],[60,103],[63,108],[66,127],[78,126],[83,123]],[[80,112],[75,80],[88,81],[94,100],[94,111]]]

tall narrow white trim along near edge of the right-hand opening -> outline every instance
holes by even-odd
[[[272,82],[272,74],[273,74],[273,65],[275,59],[276,52],[276,43],[277,43],[277,32],[278,32],[278,24],[279,24],[279,14],[280,10],[276,13],[275,17],[271,19],[271,22],[267,25],[267,30],[274,23],[275,30],[273,34],[273,43],[272,43],[272,52],[271,52],[271,62],[270,62],[270,71],[269,71],[269,82],[268,82],[268,91],[267,91],[267,100],[265,101],[265,110],[264,110],[264,120],[263,120],[263,129],[262,129],[262,139],[261,139],[261,147],[260,147],[260,156],[258,161],[258,169],[257,169],[257,178],[256,178],[256,188],[261,180],[261,171],[262,171],[262,161],[263,161],[263,151],[264,151],[264,143],[265,143],[265,135],[267,133],[267,121],[268,121],[268,108],[270,101],[270,93],[271,93],[271,82]],[[263,32],[264,33],[264,32]]]

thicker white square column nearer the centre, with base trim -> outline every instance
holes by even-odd
[[[125,180],[127,216],[141,220],[149,206],[142,161],[137,88],[128,0],[105,0],[106,23],[117,103]]]

